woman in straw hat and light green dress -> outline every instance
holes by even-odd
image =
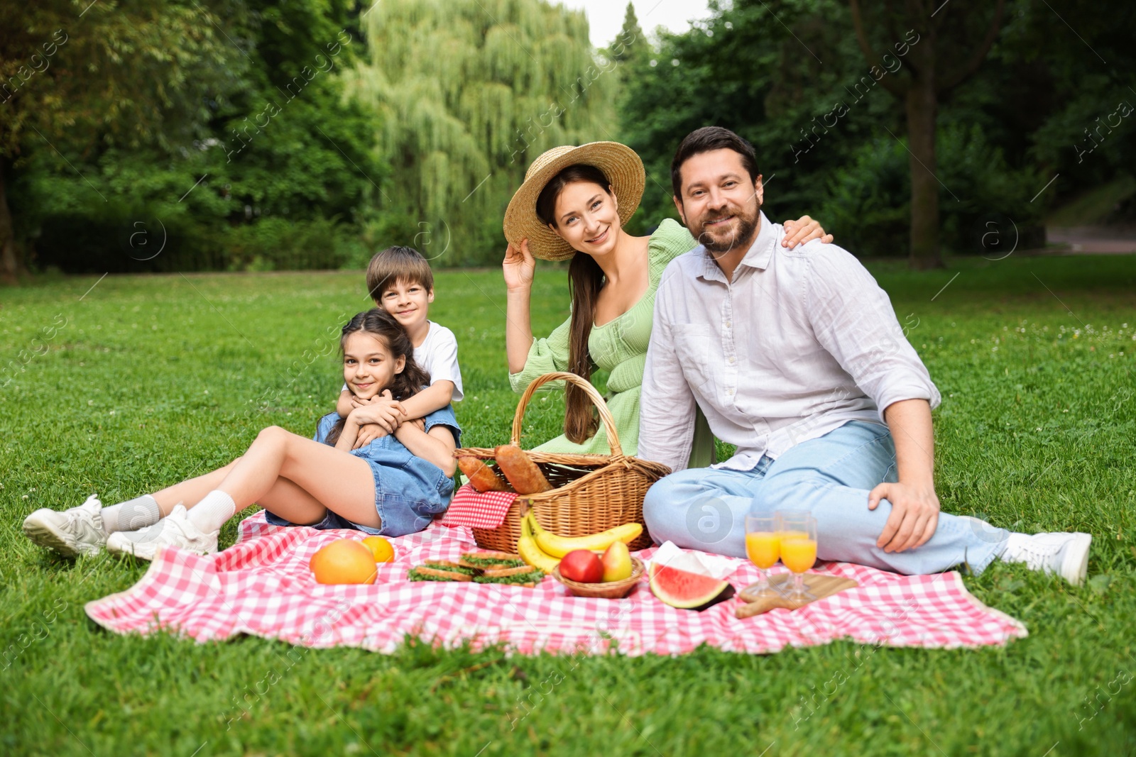
[[[593,367],[610,371],[608,410],[628,455],[638,449],[640,385],[659,277],[667,263],[696,245],[671,219],[650,237],[623,230],[645,183],[643,161],[618,142],[553,148],[533,161],[504,218],[506,348],[513,392],[524,392],[534,378],[552,371],[585,379]],[[808,216],[785,227],[782,244],[787,247],[833,238]],[[545,339],[533,338],[529,319],[534,256],[571,259],[571,316]],[[583,390],[568,387],[565,434],[536,449],[610,454],[607,431]],[[712,462],[713,436],[700,413],[690,465]]]

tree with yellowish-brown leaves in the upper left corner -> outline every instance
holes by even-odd
[[[20,158],[192,137],[207,93],[240,67],[217,30],[240,40],[242,23],[228,0],[42,0],[0,15],[0,279],[23,268],[6,191]]]

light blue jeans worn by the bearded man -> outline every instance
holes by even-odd
[[[895,481],[895,445],[887,428],[852,421],[763,456],[749,471],[693,468],[660,479],[646,493],[643,515],[655,541],[745,557],[745,516],[775,510],[817,519],[817,557],[896,573],[937,573],[963,562],[982,572],[1005,549],[1009,531],[974,518],[939,513],[921,547],[886,553],[876,546],[892,504],[868,510],[868,493]]]

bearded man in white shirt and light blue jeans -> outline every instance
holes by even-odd
[[[1087,533],[939,513],[938,390],[855,258],[780,246],[749,142],[716,126],[691,133],[671,183],[701,245],[667,267],[655,297],[638,456],[680,471],[648,491],[655,540],[743,557],[746,514],[796,510],[817,519],[820,560],[912,574],[1001,558],[1084,580]],[[695,404],[737,454],[684,471]]]

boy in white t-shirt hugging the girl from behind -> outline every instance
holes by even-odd
[[[392,410],[389,422],[364,426],[356,448],[392,434],[404,420],[424,418],[451,402],[460,402],[463,396],[458,340],[453,331],[427,319],[429,303],[434,302],[434,272],[426,259],[417,250],[403,246],[376,253],[367,266],[367,291],[376,305],[407,329],[415,347],[415,362],[429,373],[431,384],[406,402],[386,401]],[[384,401],[376,397],[375,402]],[[360,404],[344,385],[335,410],[346,418]]]

